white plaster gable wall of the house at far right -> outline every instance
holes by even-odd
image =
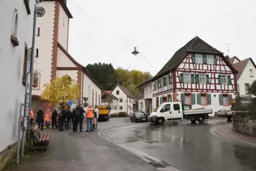
[[[253,70],[253,77],[250,76],[250,69]],[[240,78],[237,80],[237,84],[239,85],[238,92],[240,95],[245,95],[245,83],[249,83],[251,85],[254,80],[256,80],[256,69],[250,60]]]

